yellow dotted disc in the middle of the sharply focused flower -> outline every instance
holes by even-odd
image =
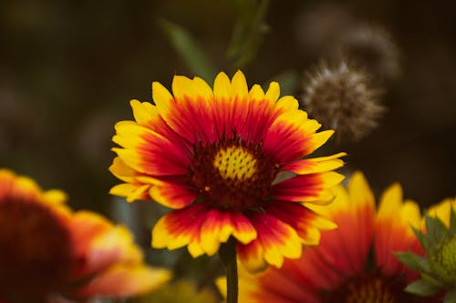
[[[245,181],[256,172],[256,159],[243,146],[228,146],[219,150],[212,165],[225,180]]]

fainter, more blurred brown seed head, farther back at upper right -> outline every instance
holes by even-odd
[[[357,25],[347,28],[336,42],[337,56],[349,58],[380,79],[399,76],[399,50],[389,33],[381,27]]]

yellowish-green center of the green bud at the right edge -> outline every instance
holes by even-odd
[[[437,251],[430,255],[430,267],[446,283],[456,283],[456,236],[447,238]]]

